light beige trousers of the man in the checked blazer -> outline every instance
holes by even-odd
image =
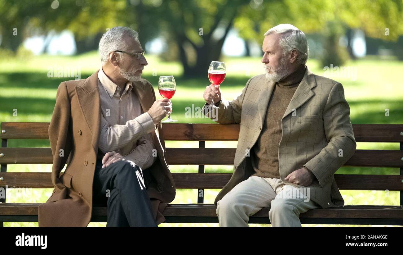
[[[247,227],[249,217],[270,208],[273,227],[301,227],[299,214],[320,206],[309,199],[309,188],[295,188],[280,179],[251,176],[217,203],[220,227]]]

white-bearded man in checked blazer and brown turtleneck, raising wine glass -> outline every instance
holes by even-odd
[[[220,226],[248,226],[262,208],[270,208],[272,226],[301,226],[300,213],[344,205],[334,172],[356,143],[343,86],[306,67],[301,30],[281,24],[264,36],[266,74],[232,101],[220,86],[204,92],[207,116],[214,98],[218,123],[241,124],[234,173],[214,202]]]

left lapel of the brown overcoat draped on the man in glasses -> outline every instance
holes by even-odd
[[[89,131],[91,132],[91,143],[95,151],[98,150],[98,140],[101,128],[101,107],[100,95],[98,91],[98,71],[88,77],[82,86],[75,86],[80,109],[84,115]]]

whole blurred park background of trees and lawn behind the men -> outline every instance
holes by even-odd
[[[174,75],[176,79],[172,118],[179,123],[212,123],[197,116],[210,84],[210,62],[226,63],[222,95],[234,98],[250,77],[264,73],[263,33],[274,25],[291,23],[307,35],[307,66],[343,84],[351,123],[402,124],[402,17],[402,0],[0,0],[0,121],[49,122],[60,82],[78,74],[85,79],[97,71],[102,33],[128,26],[139,32],[148,61],[143,78],[153,84],[157,98],[158,77]],[[186,107],[195,109],[191,113],[196,116],[186,115]],[[236,144],[206,142],[206,147],[236,148]],[[50,144],[48,140],[9,140],[8,146]],[[166,146],[198,147],[198,142],[167,141]],[[399,144],[358,143],[357,149],[399,149]],[[197,172],[197,166],[189,165],[170,169]],[[231,173],[232,169],[206,166],[207,173]],[[51,172],[51,165],[8,165],[8,171]],[[399,174],[399,169],[341,167],[336,173]],[[204,203],[214,203],[218,191],[205,190]],[[44,203],[51,194],[52,189],[32,189],[27,197],[8,189],[6,202]],[[345,205],[399,205],[397,191],[341,190],[341,194]],[[178,189],[172,203],[197,203],[197,190]],[[4,226],[37,226],[37,222],[5,222]]]

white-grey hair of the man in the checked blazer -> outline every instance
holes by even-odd
[[[297,63],[305,64],[309,56],[308,40],[305,33],[294,27],[291,24],[280,24],[270,28],[264,36],[268,36],[272,33],[280,33],[280,47],[283,49],[283,56],[291,52],[291,50],[297,50]]]

